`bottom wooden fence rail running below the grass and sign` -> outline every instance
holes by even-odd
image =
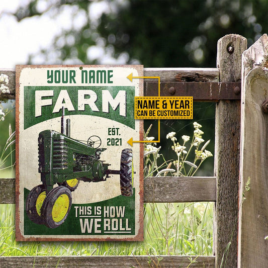
[[[8,267],[195,267],[214,268],[214,256],[26,256],[0,257]]]

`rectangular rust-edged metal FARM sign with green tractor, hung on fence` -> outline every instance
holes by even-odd
[[[16,66],[16,239],[143,239],[141,65]]]

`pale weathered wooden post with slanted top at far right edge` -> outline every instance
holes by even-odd
[[[242,57],[238,267],[268,265],[267,68],[265,34]]]

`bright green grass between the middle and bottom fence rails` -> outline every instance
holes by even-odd
[[[147,203],[143,242],[17,242],[15,205],[0,205],[1,256],[212,255],[213,203]]]

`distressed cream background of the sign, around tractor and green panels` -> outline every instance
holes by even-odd
[[[142,67],[138,66],[139,72],[134,67],[128,65],[117,65],[117,66],[83,66],[84,69],[111,69],[113,68],[113,83],[112,84],[85,84],[80,83],[81,77],[79,66],[53,66],[49,69],[61,70],[61,69],[71,69],[76,70],[76,84],[63,84],[63,83],[47,83],[47,69],[48,66],[28,66],[23,68],[20,74],[20,93],[17,93],[19,96],[19,210],[20,210],[20,230],[24,234],[24,188],[31,190],[35,186],[41,184],[40,173],[38,172],[38,135],[41,131],[52,129],[57,132],[60,132],[61,128],[61,117],[47,120],[36,124],[28,129],[24,129],[24,86],[96,86],[96,85],[110,85],[110,86],[135,86],[135,96],[140,96],[143,93],[143,82],[139,79],[133,79],[131,82],[127,79],[127,76],[132,72],[133,76],[142,76]],[[26,96],[27,97],[27,96]],[[134,102],[134,100],[133,100]],[[111,109],[111,108],[110,108]],[[126,108],[128,109],[128,107]],[[33,115],[34,116],[34,115]],[[136,210],[136,225],[135,225],[135,234],[138,233],[140,229],[139,214],[140,214],[140,177],[141,173],[140,167],[140,144],[134,143],[131,147],[127,141],[133,137],[133,140],[140,140],[139,131],[141,129],[142,121],[135,120],[135,130],[127,127],[116,121],[88,115],[71,115],[65,116],[65,119],[71,120],[70,125],[70,137],[73,139],[87,141],[87,139],[92,135],[97,135],[102,139],[102,144],[100,148],[107,148],[106,151],[102,152],[101,160],[105,160],[106,163],[111,164],[109,169],[120,169],[120,159],[121,151],[124,148],[133,149],[133,165],[134,171],[134,185],[136,188],[135,196],[135,210]],[[108,128],[119,128],[119,134],[116,136],[108,135]],[[107,146],[107,138],[122,138],[122,146]],[[77,189],[72,192],[72,203],[73,204],[86,204],[100,202],[107,200],[116,196],[121,195],[120,190],[120,176],[119,175],[110,175],[111,177],[107,179],[106,182],[99,183],[85,183],[80,182]],[[54,187],[56,187],[55,185]],[[25,235],[25,237],[29,237]],[[35,237],[44,237],[42,235],[35,235]],[[55,235],[55,238],[63,238],[63,236]],[[130,236],[132,237],[132,236]],[[69,235],[68,238],[77,238],[76,236]],[[87,238],[86,235],[80,235],[79,238]],[[98,238],[98,236],[91,236],[91,238]],[[105,236],[102,236],[105,238]],[[115,238],[125,238],[122,235],[118,235]]]

